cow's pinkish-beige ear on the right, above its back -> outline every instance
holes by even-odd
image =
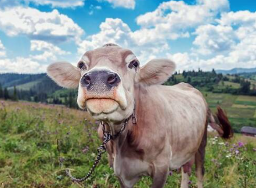
[[[174,73],[175,67],[175,63],[171,60],[151,60],[139,69],[135,82],[146,85],[162,84]]]

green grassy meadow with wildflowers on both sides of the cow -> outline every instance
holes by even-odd
[[[232,124],[239,128],[254,124],[256,98],[229,94],[204,93],[212,109],[221,105]],[[244,108],[243,108],[244,107]],[[79,188],[120,187],[107,162],[107,154],[85,183],[72,183],[58,163],[56,141],[66,167],[77,176],[91,168],[100,145],[97,122],[86,112],[63,106],[32,102],[0,101],[0,187]],[[208,136],[204,186],[208,188],[256,187],[256,138],[239,134],[230,141]],[[135,186],[146,188],[152,183],[143,178]],[[170,172],[165,187],[179,187],[181,173]],[[196,187],[194,172],[190,187]]]

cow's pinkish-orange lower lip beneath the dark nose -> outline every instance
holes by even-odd
[[[86,108],[92,115],[109,114],[118,109],[118,102],[110,98],[90,98],[85,101]]]

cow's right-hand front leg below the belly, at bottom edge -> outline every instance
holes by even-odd
[[[151,188],[163,188],[166,183],[168,174],[169,165],[164,165],[164,167],[157,168],[153,175],[153,184]]]

